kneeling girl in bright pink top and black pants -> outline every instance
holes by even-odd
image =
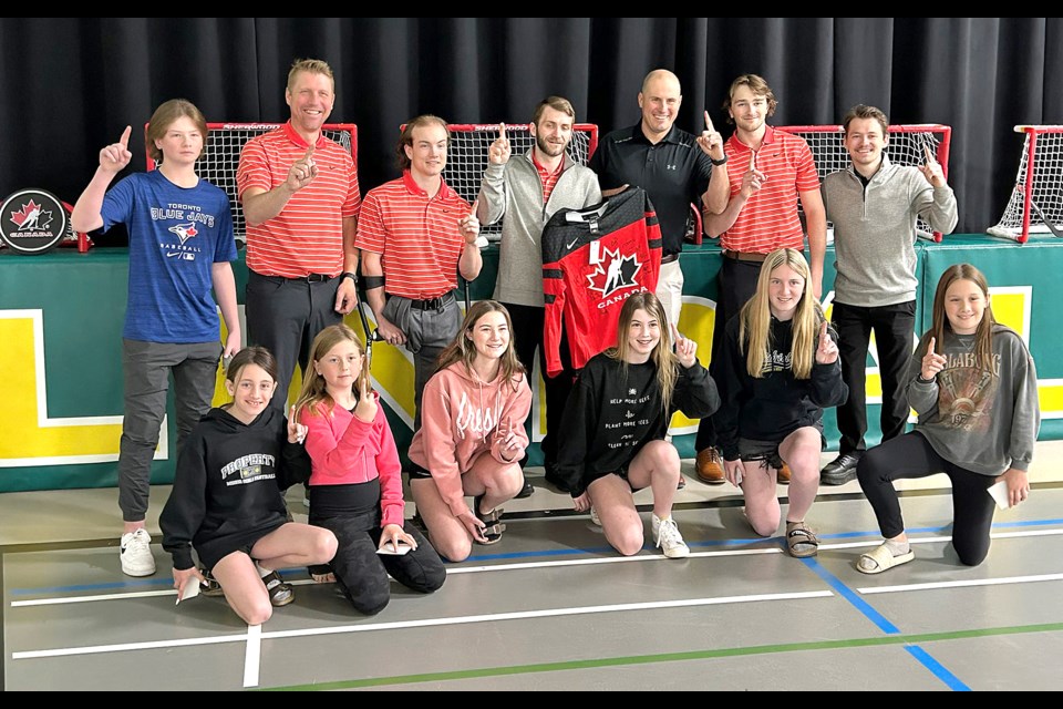
[[[345,325],[313,339],[296,403],[310,454],[310,524],[331,530],[339,548],[314,580],[332,578],[359,612],[375,615],[391,598],[389,574],[432,593],[446,571],[438,554],[403,521],[399,451],[369,382],[365,351]]]

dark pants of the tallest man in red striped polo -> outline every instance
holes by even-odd
[[[247,343],[265,347],[277,359],[277,389],[270,403],[285,413],[296,364],[307,371],[313,338],[330,325],[343,321],[343,316],[336,311],[337,288],[336,278],[307,282],[247,273]]]

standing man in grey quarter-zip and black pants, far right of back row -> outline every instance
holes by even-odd
[[[908,401],[905,371],[916,323],[916,219],[942,234],[956,228],[956,195],[929,146],[919,167],[894,165],[883,153],[889,120],[875,106],[859,104],[843,119],[852,162],[827,175],[823,202],[834,223],[836,271],[832,322],[838,332],[842,378],[848,401],[838,407],[842,442],[838,456],[819,480],[842,485],[856,477],[867,448],[865,368],[871,331],[883,382],[881,440],[905,432]]]

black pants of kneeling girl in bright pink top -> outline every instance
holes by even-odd
[[[321,487],[311,489],[318,493]],[[376,615],[391,600],[390,574],[400,584],[423,594],[436,590],[446,580],[446,569],[435,548],[409,522],[403,531],[417,541],[417,548],[403,556],[376,553],[380,546],[380,508],[362,513],[319,515],[324,504],[310,505],[310,524],[331,530],[339,545],[332,558],[336,582],[359,613]]]

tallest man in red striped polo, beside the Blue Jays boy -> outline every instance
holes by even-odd
[[[296,61],[285,100],[291,119],[248,141],[236,174],[247,219],[247,341],[277,358],[272,404],[281,410],[296,362],[306,371],[313,338],[358,305],[361,206],[353,157],[321,134],[336,101],[328,63]]]

